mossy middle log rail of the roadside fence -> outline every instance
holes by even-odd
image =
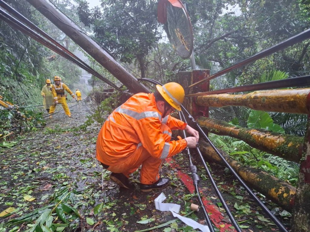
[[[298,163],[302,157],[303,137],[236,127],[224,121],[205,117],[198,118],[197,122],[203,130],[243,140],[254,148],[283,159]]]

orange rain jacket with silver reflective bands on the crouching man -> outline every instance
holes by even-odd
[[[170,115],[165,124],[171,130],[184,130],[186,123]],[[125,162],[142,145],[155,158],[165,159],[187,146],[185,139],[165,142],[161,131],[162,115],[153,93],[138,93],[115,109],[101,128],[96,158],[106,165]]]

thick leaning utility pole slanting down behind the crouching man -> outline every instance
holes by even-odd
[[[98,63],[106,68],[113,76],[120,80],[131,92],[146,92],[150,90],[122,67],[114,58],[100,47],[94,40],[88,37],[66,15],[58,11],[47,0],[27,0],[38,11],[49,19],[56,27],[70,37],[77,45],[91,55]]]

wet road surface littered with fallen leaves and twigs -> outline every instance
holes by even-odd
[[[171,180],[165,189],[139,191],[138,171],[131,177],[136,189],[120,189],[95,159],[101,125],[93,123],[81,130],[90,113],[82,104],[73,105],[69,105],[72,118],[59,113],[47,119],[46,127],[12,139],[11,145],[0,149],[0,232],[41,231],[38,218],[44,212],[51,219],[49,224],[41,223],[41,227],[49,228],[44,227],[44,232],[144,230],[175,219],[170,212],[155,209],[154,199],[161,192],[167,196],[165,203],[181,205],[182,215],[191,212],[191,203],[198,204],[178,173],[190,175],[188,159],[182,153],[163,165],[161,175]],[[94,110],[90,104],[88,107]],[[208,213],[211,220],[218,212],[223,216],[215,231],[234,231],[200,162],[194,155],[193,163],[201,178],[201,196],[217,211]],[[242,231],[278,231],[227,170],[217,165],[210,165],[210,170]],[[279,219],[289,226],[289,214],[286,216],[281,208],[258,196],[276,215],[282,212]],[[188,217],[206,224],[201,210]],[[153,231],[196,230],[177,221]]]

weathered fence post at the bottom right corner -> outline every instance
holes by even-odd
[[[308,116],[307,132],[303,144],[291,231],[310,231],[310,115]]]

